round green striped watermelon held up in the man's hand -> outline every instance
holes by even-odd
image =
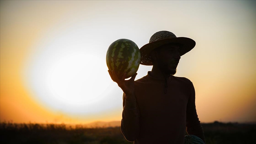
[[[116,71],[117,76],[127,73],[127,79],[137,72],[140,58],[140,49],[133,41],[118,39],[108,47],[106,62],[108,69]]]

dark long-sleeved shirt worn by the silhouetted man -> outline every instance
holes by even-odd
[[[167,86],[166,89],[164,87]],[[134,144],[183,144],[185,132],[204,141],[193,83],[184,77],[135,81],[135,101],[123,95],[121,131]]]

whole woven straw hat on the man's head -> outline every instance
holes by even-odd
[[[180,43],[183,46],[180,48],[180,56],[189,52],[196,45],[196,42],[193,39],[186,37],[176,37],[174,33],[169,31],[159,31],[154,33],[148,44],[145,44],[140,48],[141,61],[142,65],[153,65],[153,59],[150,56],[150,52],[164,44],[170,43]]]

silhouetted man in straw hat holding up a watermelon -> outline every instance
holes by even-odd
[[[183,144],[185,131],[204,141],[204,132],[196,113],[195,89],[184,77],[173,76],[180,56],[196,45],[190,38],[159,31],[140,48],[142,65],[153,65],[141,79],[119,79],[109,71],[123,90],[121,131],[135,144]],[[185,129],[186,127],[186,129]]]

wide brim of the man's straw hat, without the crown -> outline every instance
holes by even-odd
[[[169,38],[169,39],[154,41],[154,42],[145,44],[143,47],[140,48],[140,54],[141,54],[140,64],[153,65],[153,59],[150,56],[151,51],[162,45],[170,44],[170,43],[180,43],[183,45],[182,47],[180,47],[180,56],[189,52],[191,49],[193,49],[196,46],[196,42],[193,39],[186,38],[186,37],[176,37],[176,38]]]

